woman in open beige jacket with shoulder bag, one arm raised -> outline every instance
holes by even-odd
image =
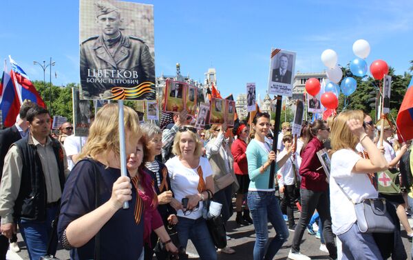
[[[233,169],[234,159],[225,140],[226,123],[212,125],[210,131],[213,138],[207,143],[205,149],[213,171],[215,190],[213,201],[222,204],[221,216],[224,223],[226,223],[233,214],[233,190],[238,189],[238,182]],[[234,254],[235,250],[227,246],[220,248],[218,252]]]

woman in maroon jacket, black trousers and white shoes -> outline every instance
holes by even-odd
[[[337,258],[337,248],[331,230],[330,202],[328,197],[328,180],[321,162],[317,157],[317,152],[324,148],[323,142],[330,134],[330,128],[326,121],[316,120],[306,128],[306,137],[301,149],[301,214],[295,227],[293,246],[288,258],[293,260],[310,260],[299,252],[301,239],[310,219],[317,209],[323,223],[323,235],[326,247],[332,259]]]

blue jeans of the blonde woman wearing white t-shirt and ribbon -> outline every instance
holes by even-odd
[[[188,239],[191,239],[193,246],[203,260],[216,260],[217,252],[213,244],[211,235],[205,219],[188,219],[178,217],[176,225],[180,246],[187,248]]]

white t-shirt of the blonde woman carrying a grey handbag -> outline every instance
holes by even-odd
[[[332,154],[330,212],[332,232],[337,235],[347,232],[357,220],[352,202],[358,203],[363,199],[374,199],[379,196],[368,174],[352,172],[352,168],[359,159],[361,159],[360,155],[350,149],[341,149]],[[352,202],[348,200],[337,183],[350,196]]]

